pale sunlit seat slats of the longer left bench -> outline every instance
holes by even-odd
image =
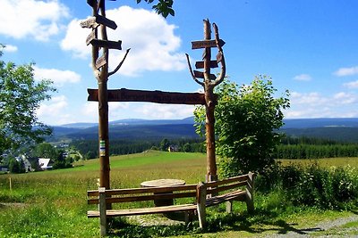
[[[197,205],[195,204],[183,204],[183,205],[163,206],[163,207],[144,208],[144,209],[109,209],[106,211],[106,214],[107,217],[136,216],[136,215],[146,215],[146,214],[165,213],[165,212],[174,212],[174,211],[193,211],[196,208]],[[99,211],[89,210],[87,212],[87,217],[99,217]]]

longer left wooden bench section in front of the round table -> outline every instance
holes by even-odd
[[[107,234],[107,217],[123,217],[146,215],[168,212],[184,212],[185,222],[189,222],[195,210],[197,210],[196,197],[197,185],[177,185],[168,187],[146,187],[109,189],[98,188],[88,191],[88,204],[98,204],[99,209],[89,210],[87,217],[99,217],[101,235]],[[174,204],[162,207],[145,207],[132,209],[107,209],[107,204],[136,202],[136,201],[158,201],[175,200],[179,198],[192,198],[192,203]]]

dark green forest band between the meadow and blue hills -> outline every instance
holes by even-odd
[[[163,144],[163,142],[166,142]],[[85,159],[98,158],[98,140],[73,140],[70,144],[77,148]],[[158,140],[111,140],[109,153],[113,155],[144,152],[149,149],[177,152],[205,152],[202,139],[163,139]],[[358,157],[358,144],[330,139],[286,136],[273,153],[275,159],[320,159],[337,157]]]

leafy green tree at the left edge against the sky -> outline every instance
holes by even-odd
[[[4,45],[0,45],[0,57]],[[38,121],[36,110],[54,92],[50,80],[35,81],[34,63],[16,66],[0,61],[0,154],[23,144],[39,143],[51,129]]]

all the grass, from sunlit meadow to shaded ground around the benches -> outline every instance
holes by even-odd
[[[282,160],[283,164],[309,160]],[[187,184],[205,179],[206,155],[183,152],[142,152],[111,157],[111,187],[139,187],[142,181],[178,178]],[[357,158],[312,160],[322,166],[351,165],[358,168]],[[307,165],[306,165],[307,166]],[[74,168],[20,175],[0,175],[0,237],[98,237],[98,219],[89,219],[86,212],[87,190],[98,187],[98,160],[80,161]],[[356,171],[356,170],[355,170]],[[358,173],[357,173],[358,176]],[[327,217],[348,216],[348,211],[283,208],[279,193],[258,193],[255,214],[247,214],[243,204],[235,204],[237,212],[226,215],[224,207],[209,211],[208,230],[202,233],[194,219],[193,226],[139,226],[118,219],[116,237],[237,237],[287,232]],[[218,212],[219,211],[219,212]],[[160,216],[159,216],[160,217]],[[149,216],[149,220],[157,217]],[[313,226],[313,225],[312,225]],[[214,234],[213,234],[214,233]]]

